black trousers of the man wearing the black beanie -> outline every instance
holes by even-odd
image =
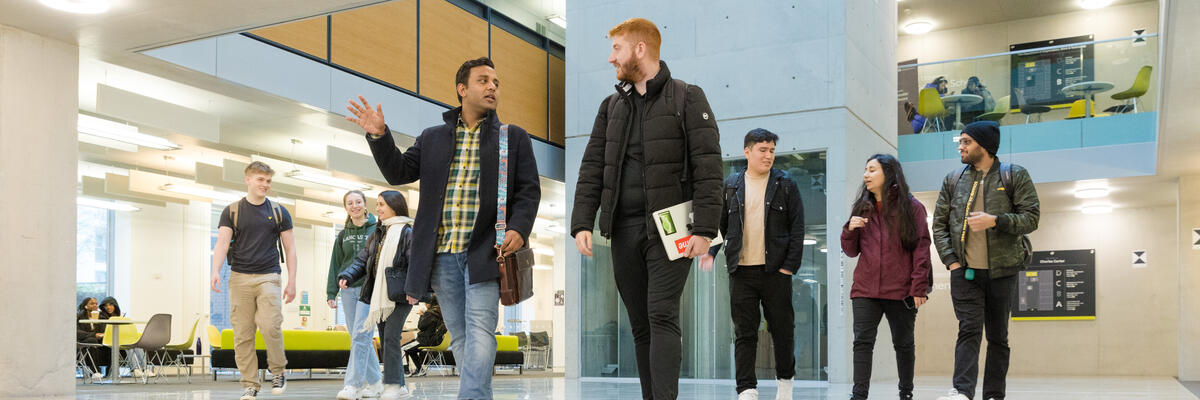
[[[959,341],[954,346],[954,389],[974,399],[979,376],[979,342],[988,335],[988,359],[983,370],[984,399],[1004,398],[1008,375],[1008,317],[1016,292],[1016,276],[991,279],[986,269],[976,269],[974,280],[964,277],[966,268],[950,271],[950,299],[959,318]]]

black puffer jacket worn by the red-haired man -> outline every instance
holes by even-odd
[[[671,79],[666,62],[659,61],[659,73],[646,84],[646,109],[642,121],[644,154],[646,226],[654,235],[649,213],[692,201],[692,233],[714,238],[721,217],[721,143],[716,117],[700,86]],[[686,85],[686,100],[674,97],[673,85]],[[613,227],[613,208],[620,198],[620,172],[629,142],[634,85],[617,85],[617,96],[600,103],[592,138],[580,163],[571,213],[571,235],[592,231],[600,211],[600,234],[608,237]],[[618,103],[610,107],[611,101]],[[684,101],[683,115],[677,115],[676,101]],[[610,113],[610,109],[612,111]],[[680,125],[680,119],[683,124]],[[684,147],[683,126],[688,129]],[[688,181],[682,181],[684,151],[691,155]]]

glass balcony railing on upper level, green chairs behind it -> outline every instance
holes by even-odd
[[[900,101],[913,109],[900,135],[958,131],[983,119],[1016,125],[1142,113],[1157,106],[1158,35],[1051,44],[899,70]],[[923,95],[926,88],[931,90]],[[902,108],[901,113],[910,107]]]

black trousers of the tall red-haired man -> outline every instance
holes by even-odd
[[[612,268],[634,330],[642,398],[674,399],[682,363],[679,297],[691,258],[670,261],[662,241],[647,238],[644,226],[623,227],[612,233]]]

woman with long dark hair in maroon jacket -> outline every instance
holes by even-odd
[[[841,229],[841,249],[858,257],[850,298],[854,306],[854,389],[866,399],[880,320],[892,328],[900,399],[912,399],[916,362],[913,324],[930,289],[929,227],[925,207],[908,192],[900,161],[876,154],[866,160],[863,187]]]

